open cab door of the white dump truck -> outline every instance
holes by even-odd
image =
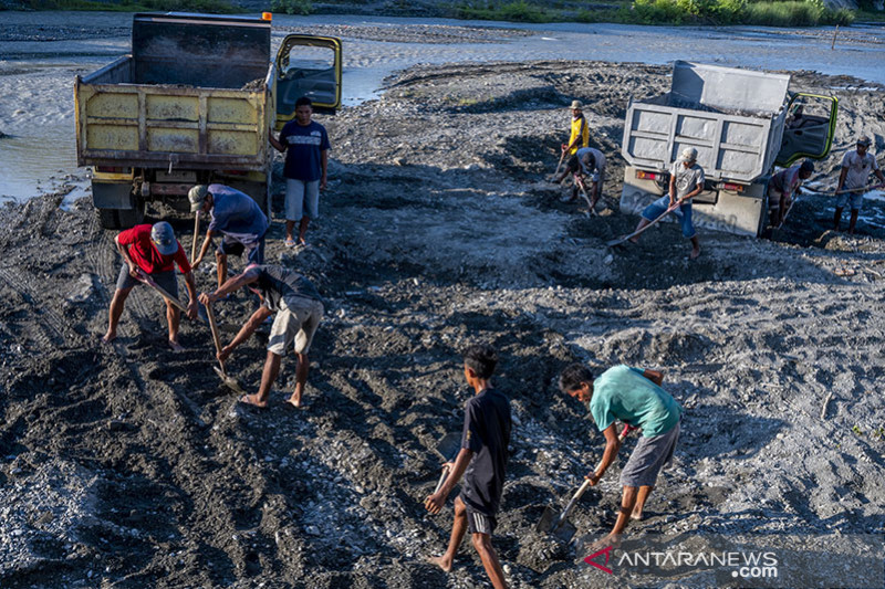
[[[839,98],[820,94],[794,94],[787,112],[783,141],[774,164],[785,168],[801,158],[826,157],[835,135]]]

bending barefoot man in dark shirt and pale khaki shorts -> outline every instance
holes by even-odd
[[[242,274],[231,277],[214,293],[200,294],[200,302],[209,305],[242,286],[248,286],[261,298],[261,306],[252,313],[231,343],[218,353],[218,359],[227,360],[233,348],[249,339],[264,319],[275,313],[258,393],[243,395],[240,402],[260,408],[268,406],[270,388],[280,374],[282,357],[289,347],[293,347],[298,357],[295,390],[287,400],[287,407],[300,408],[310,369],[308,351],[323,319],[320,294],[308,278],[294,270],[280,265],[249,264]]]

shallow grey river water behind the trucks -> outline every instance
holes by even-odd
[[[127,13],[0,12],[0,132],[9,136],[0,138],[0,200],[30,198],[70,183],[72,175],[83,177],[75,158],[73,77],[128,52],[131,21]],[[831,49],[832,29],[513,24],[348,15],[274,15],[273,22],[279,29],[337,32],[344,46],[345,106],[376,98],[385,77],[418,63],[688,60],[816,70],[885,84],[882,25],[843,30]],[[39,31],[29,34],[38,27],[67,32],[54,38]],[[86,32],[76,33],[79,27]],[[90,31],[96,33],[91,36]],[[458,34],[447,36],[450,31]],[[438,42],[436,33],[455,42]],[[274,43],[284,34],[274,32]],[[423,35],[436,42],[423,42]]]

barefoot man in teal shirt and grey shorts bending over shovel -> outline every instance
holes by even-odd
[[[615,366],[593,378],[582,364],[568,366],[560,375],[560,389],[587,403],[596,427],[605,435],[605,452],[596,471],[586,478],[595,485],[614,462],[621,442],[615,420],[642,428],[643,437],[621,471],[624,495],[612,532],[594,545],[595,549],[615,544],[631,518],[642,519],[643,507],[655,487],[660,469],[673,459],[679,439],[683,408],[660,388],[664,375],[628,366]]]

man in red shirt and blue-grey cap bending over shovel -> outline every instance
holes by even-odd
[[[122,231],[114,242],[123,256],[123,267],[119,269],[116,291],[111,301],[107,333],[102,338],[111,343],[117,337],[117,324],[123,314],[123,307],[129,292],[144,280],[150,276],[164,291],[173,296],[178,296],[178,281],[175,277],[175,265],[185,275],[187,294],[190,301],[187,306],[187,316],[197,317],[197,285],[194,282],[194,272],[187,261],[187,255],[181,244],[175,239],[173,228],[166,221],[155,225],[135,225]],[[166,320],[169,324],[169,347],[175,351],[184,348],[178,343],[178,325],[180,323],[178,307],[166,301]]]

